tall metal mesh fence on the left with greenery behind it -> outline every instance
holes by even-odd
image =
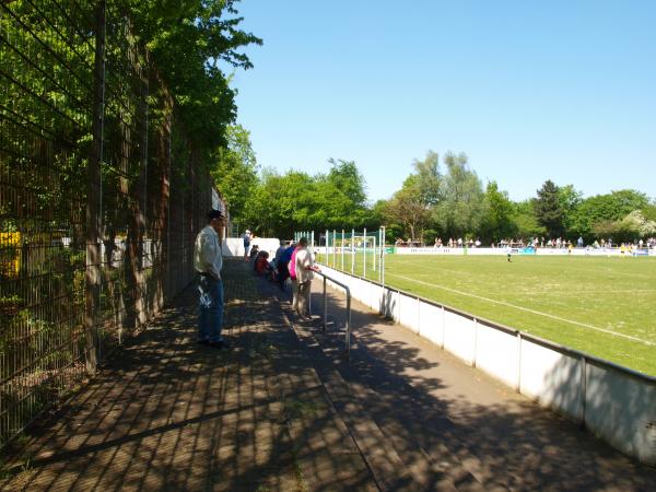
[[[211,178],[122,12],[0,4],[0,447],[191,280]]]

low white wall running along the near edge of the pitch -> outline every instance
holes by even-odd
[[[321,270],[373,311],[656,465],[656,378],[326,266]]]

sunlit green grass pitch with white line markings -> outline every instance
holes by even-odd
[[[515,256],[508,263],[504,256],[388,255],[385,261],[388,285],[656,376],[656,258]],[[362,277],[361,258],[355,270]],[[371,259],[366,273],[378,281]]]

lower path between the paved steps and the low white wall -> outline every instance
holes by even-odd
[[[313,289],[313,309],[319,315],[320,282]],[[319,320],[304,330],[332,359],[422,490],[433,489],[445,476],[458,489],[656,490],[656,469],[358,302],[347,364],[343,298],[343,293],[329,291],[326,333]]]

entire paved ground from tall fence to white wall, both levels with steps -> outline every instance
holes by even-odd
[[[32,430],[3,490],[656,490],[656,469],[358,303],[347,363],[337,292],[324,333],[249,265],[225,288],[232,350],[195,343],[187,291]]]

